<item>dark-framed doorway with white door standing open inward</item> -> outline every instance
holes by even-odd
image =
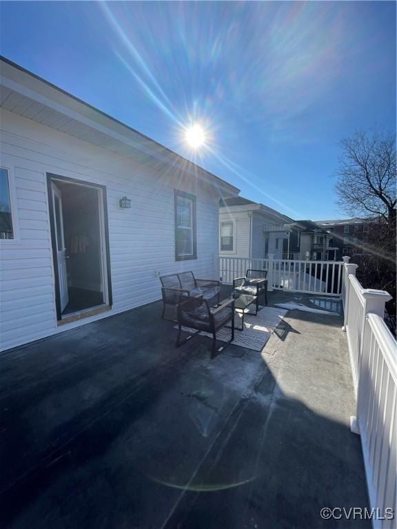
[[[57,315],[76,320],[110,307],[105,189],[48,175]]]

